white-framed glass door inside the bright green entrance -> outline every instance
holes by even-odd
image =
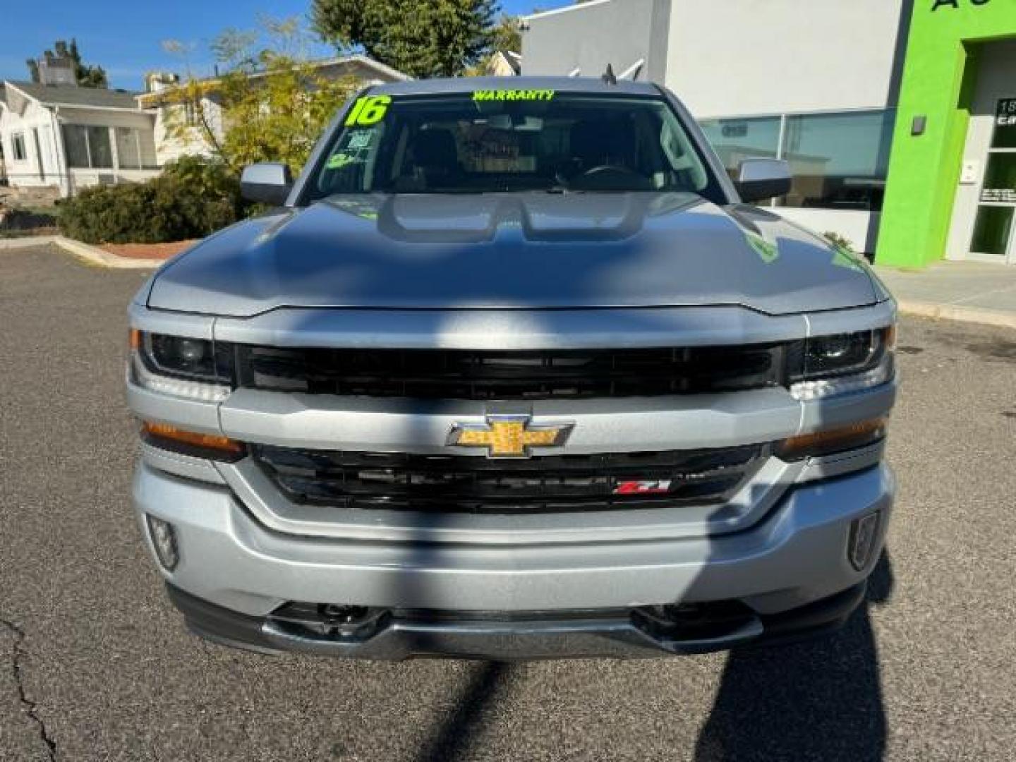
[[[997,105],[969,251],[1016,264],[1016,93]]]

